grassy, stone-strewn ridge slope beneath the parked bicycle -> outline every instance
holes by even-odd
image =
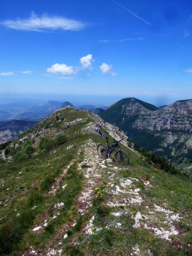
[[[0,253],[47,255],[54,250],[59,255],[62,249],[62,255],[134,255],[138,246],[142,255],[191,255],[191,179],[156,170],[145,163],[143,156],[125,146],[121,148],[130,157],[127,167],[115,162],[105,163],[103,167],[99,165],[102,159],[97,156],[94,143],[105,143],[105,139],[92,132],[92,125],[95,124],[92,114],[70,108],[60,111],[57,116],[59,119],[52,115],[46,120],[53,124],[47,129],[42,123],[32,131],[44,129],[49,137],[65,131],[65,144],[50,152],[36,149],[31,158],[0,169],[0,218],[6,216],[0,220]],[[60,118],[64,120],[59,122]],[[76,118],[84,120],[66,125],[65,122]],[[100,128],[108,135],[105,128]],[[40,136],[36,137],[35,146]],[[72,147],[67,150],[68,146]],[[130,187],[122,187],[121,179],[129,177],[138,181],[132,180]],[[151,186],[147,186],[146,181]],[[113,184],[114,187],[111,187]],[[125,192],[117,193],[116,186]],[[55,194],[48,193],[54,188]],[[130,194],[135,188],[140,188],[139,194]],[[140,203],[133,203],[132,199],[137,196],[141,198]],[[127,203],[124,203],[124,198]],[[61,202],[63,207],[54,207]],[[171,241],[145,228],[147,224],[159,230],[171,229],[170,221],[165,219],[167,213],[156,211],[155,205],[172,210],[173,213],[168,213],[169,217],[180,216],[179,220],[172,220],[179,234],[170,236]],[[140,227],[135,228],[134,217],[138,211],[142,220]],[[112,212],[123,214],[114,216]],[[46,227],[43,226],[45,220],[48,222]],[[32,230],[39,226],[38,231]],[[91,235],[86,233],[87,226],[92,228]],[[96,231],[96,228],[102,229]],[[64,239],[66,234],[68,237]]]

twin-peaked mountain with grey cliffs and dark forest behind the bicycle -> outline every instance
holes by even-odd
[[[180,168],[192,165],[192,100],[180,100],[163,108],[135,98],[119,100],[100,113],[148,151],[164,156]]]

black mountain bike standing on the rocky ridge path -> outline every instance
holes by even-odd
[[[108,148],[104,145],[104,144],[99,144],[97,146],[97,154],[99,155],[100,158],[102,159],[106,159],[107,157],[109,158],[109,156],[112,154],[113,150],[115,148],[117,148],[117,152],[115,153],[115,161],[117,164],[123,164],[123,165],[128,165],[129,164],[129,156],[127,156],[127,153],[125,153],[123,150],[121,150],[120,146],[119,146],[119,142],[121,142],[122,140],[116,141],[114,140],[113,145],[109,145],[108,144],[108,137],[103,136],[106,140],[107,140],[107,146]]]

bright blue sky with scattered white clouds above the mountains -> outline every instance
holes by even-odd
[[[0,93],[191,99],[192,2],[0,1],[0,56]]]

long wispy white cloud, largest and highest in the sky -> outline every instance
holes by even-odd
[[[46,14],[38,17],[34,12],[28,19],[4,20],[1,24],[8,28],[43,32],[47,29],[82,30],[86,24],[77,20],[59,16],[48,17]]]

